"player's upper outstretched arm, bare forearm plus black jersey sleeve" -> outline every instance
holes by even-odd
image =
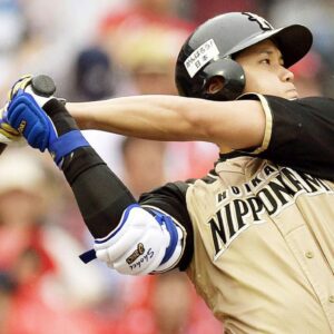
[[[204,140],[333,179],[334,101],[246,95],[237,101],[140,96],[67,104],[81,128],[158,140]]]

